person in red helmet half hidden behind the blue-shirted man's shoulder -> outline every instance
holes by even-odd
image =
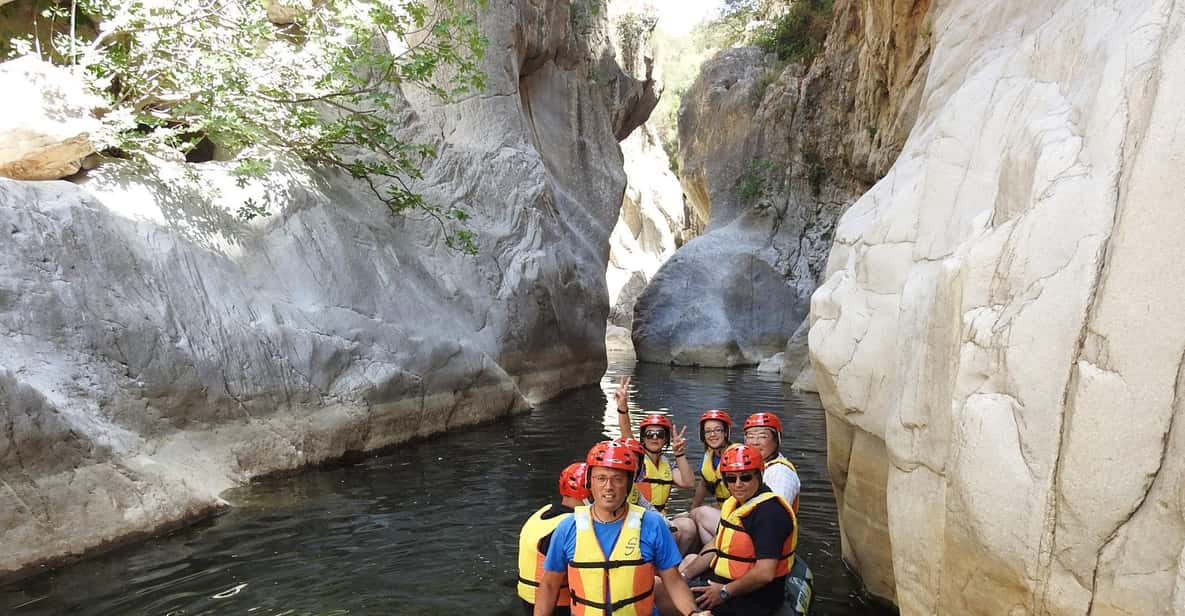
[[[519,579],[518,595],[526,614],[534,612],[536,589],[543,577],[543,559],[551,546],[551,534],[559,522],[572,515],[576,507],[584,505],[591,494],[585,486],[588,463],[572,462],[559,473],[559,502],[544,505],[534,512],[519,531]],[[556,599],[557,616],[569,616],[568,589],[562,588]]]

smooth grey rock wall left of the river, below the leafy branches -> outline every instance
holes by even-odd
[[[290,161],[245,190],[216,162],[0,180],[0,573],[595,383],[616,135],[654,85],[570,8],[492,6],[485,92],[404,92],[405,135],[438,152],[417,187],[468,208],[476,257]],[[235,214],[264,195],[269,216]]]

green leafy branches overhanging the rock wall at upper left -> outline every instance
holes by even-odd
[[[467,212],[409,185],[434,148],[397,134],[399,86],[443,100],[483,88],[474,0],[43,5],[51,25],[9,41],[9,54],[33,51],[84,71],[109,105],[95,136],[107,154],[237,158],[244,180],[269,171],[251,148],[294,154],[363,180],[392,213],[427,213],[449,246],[475,252],[474,235],[460,227]],[[241,208],[244,218],[260,213],[257,204]]]

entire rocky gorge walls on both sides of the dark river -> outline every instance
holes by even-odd
[[[828,556],[902,615],[1185,614],[1185,5],[737,0],[702,65],[655,6],[489,2],[481,91],[395,89],[475,256],[295,158],[96,166],[76,76],[0,64],[0,577],[494,419],[601,435],[636,358],[685,418],[818,392]]]

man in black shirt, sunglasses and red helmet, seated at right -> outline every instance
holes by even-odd
[[[729,447],[720,456],[729,499],[712,548],[684,575],[706,573],[692,583],[696,603],[713,616],[771,616],[786,602],[786,580],[795,565],[798,520],[790,505],[764,483],[762,453],[750,445]]]

